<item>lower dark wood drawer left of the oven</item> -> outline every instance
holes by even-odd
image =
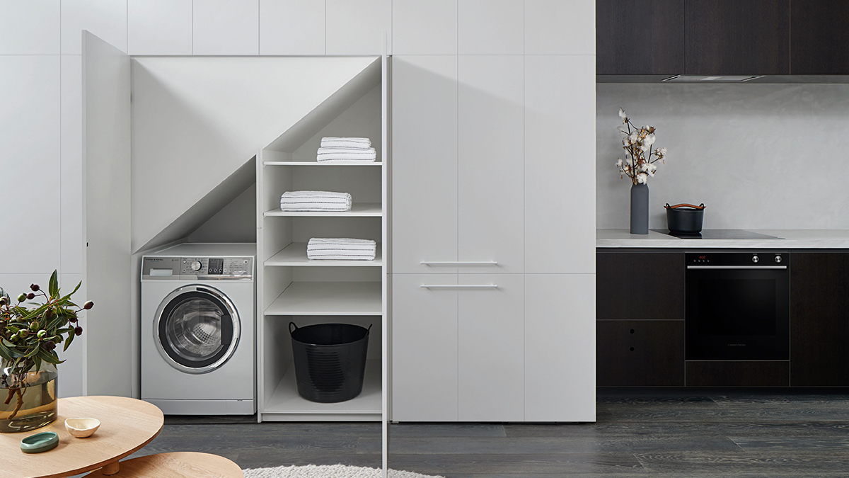
[[[599,387],[683,386],[683,321],[599,321],[596,339]]]

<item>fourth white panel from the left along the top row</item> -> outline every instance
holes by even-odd
[[[259,54],[259,0],[194,0],[194,54]]]

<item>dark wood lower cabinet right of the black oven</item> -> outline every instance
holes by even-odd
[[[790,385],[849,386],[849,253],[793,253]]]

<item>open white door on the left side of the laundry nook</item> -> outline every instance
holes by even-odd
[[[130,57],[86,32],[82,48],[89,395],[131,394]]]

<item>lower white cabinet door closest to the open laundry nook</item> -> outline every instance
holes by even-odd
[[[392,276],[392,420],[457,421],[456,274]]]

